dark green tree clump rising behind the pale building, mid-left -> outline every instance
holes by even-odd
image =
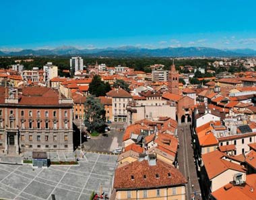
[[[89,84],[89,92],[94,96],[105,96],[106,92],[111,90],[110,85],[105,84],[104,81],[101,80],[100,75],[94,75],[92,82]]]

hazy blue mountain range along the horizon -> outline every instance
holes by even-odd
[[[78,49],[63,46],[55,49],[24,49],[22,51],[0,51],[0,56],[92,56],[92,57],[255,57],[256,51],[250,48],[218,49],[208,47],[139,48],[121,46],[118,48]]]

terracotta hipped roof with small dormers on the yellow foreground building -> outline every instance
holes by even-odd
[[[156,189],[158,187],[185,185],[183,174],[161,160],[150,166],[148,160],[135,161],[115,171],[115,189]]]

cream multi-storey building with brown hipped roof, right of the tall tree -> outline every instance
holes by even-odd
[[[106,93],[106,96],[108,96],[108,98],[112,98],[112,121],[127,122],[126,106],[129,101],[132,100],[131,94],[121,88],[116,88],[115,90],[111,90],[110,92]]]

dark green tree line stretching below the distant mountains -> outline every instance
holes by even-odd
[[[25,69],[32,69],[32,67],[42,67],[46,64],[46,62],[53,62],[54,65],[57,65],[62,71],[63,69],[69,69],[69,59],[71,57],[63,56],[63,57],[1,57],[0,58],[0,67],[7,68],[7,66],[15,64],[15,60],[18,59],[34,59],[32,62],[22,62]],[[84,65],[95,65],[96,61],[98,64],[105,63],[107,66],[115,67],[117,65],[131,67],[137,71],[145,71],[150,72],[150,65],[154,64],[162,64],[165,65],[164,69],[170,69],[170,65],[172,65],[172,59],[170,58],[99,58],[99,57],[83,57]],[[175,60],[174,64],[177,69],[179,66],[191,65],[197,67],[205,67],[208,62],[213,62],[212,59],[182,59]]]

